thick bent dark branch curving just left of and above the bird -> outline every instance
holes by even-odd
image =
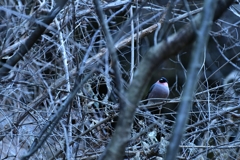
[[[214,20],[219,18],[232,2],[233,0],[219,0],[216,2],[218,3],[218,7],[215,11]],[[201,25],[201,15],[196,16],[190,23],[199,28]],[[135,72],[134,83],[131,83],[126,91],[126,105],[121,106],[122,110],[120,111],[115,132],[101,159],[123,159],[134,114],[139,100],[143,96],[145,86],[147,86],[146,84],[149,82],[150,76],[156,66],[161,64],[165,59],[177,55],[179,50],[193,42],[195,39],[195,31],[190,23],[180,29],[176,34],[167,37],[166,40],[150,48],[148,53],[146,53],[146,57],[143,58]]]

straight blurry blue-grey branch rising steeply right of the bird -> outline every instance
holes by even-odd
[[[217,2],[215,0],[205,0],[201,16],[199,30],[195,31],[197,39],[192,51],[191,64],[187,76],[186,86],[183,91],[181,103],[178,109],[177,119],[174,126],[171,141],[168,146],[166,160],[176,159],[179,144],[185,130],[185,125],[189,117],[192,106],[192,98],[198,82],[198,71],[201,67],[201,59],[204,48],[208,42],[209,32],[213,22],[213,17]],[[196,80],[197,79],[197,80]]]

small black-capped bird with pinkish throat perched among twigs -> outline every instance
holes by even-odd
[[[168,81],[165,77],[161,77],[156,83],[154,83],[149,92],[147,99],[151,98],[168,98],[169,96],[169,87]],[[153,100],[149,100],[149,102],[154,102]]]

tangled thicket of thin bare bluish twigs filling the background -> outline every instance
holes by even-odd
[[[162,23],[164,19],[166,5],[153,2],[101,2],[110,32],[116,41],[125,90],[132,79],[132,71],[147,50],[146,44],[140,46],[140,41],[147,36],[156,38],[152,33],[159,30],[157,23]],[[39,24],[41,18],[51,11],[55,2],[2,0],[0,4],[2,65],[34,32],[36,23]],[[173,9],[174,18],[170,19],[172,32],[201,11],[201,1],[191,5],[196,7],[191,12],[181,7]],[[131,45],[131,20],[137,33],[135,47]],[[217,25],[221,26],[220,21]],[[117,37],[123,28],[121,37]],[[222,32],[211,32],[211,36],[217,41],[216,36]],[[233,32],[224,32],[229,41],[238,40],[231,34]],[[219,46],[224,45],[223,42]],[[136,52],[134,64],[130,60],[132,47]],[[219,48],[228,50],[231,47]],[[183,69],[186,65],[179,58],[176,63]],[[31,151],[30,147],[38,136],[48,132],[44,126],[51,122],[51,117],[64,103],[78,78],[84,79],[85,83],[51,135],[31,159],[99,158],[111,139],[119,113],[118,91],[111,66],[111,57],[93,3],[84,0],[68,2],[41,38],[1,81],[0,158],[19,159]],[[208,72],[207,68],[203,68]],[[77,73],[81,73],[78,78]],[[175,76],[171,77],[170,81],[173,82]],[[220,160],[240,157],[240,106],[236,89],[239,77],[238,72],[233,72],[223,85],[218,84],[217,79],[214,80],[217,84],[214,87],[207,81],[199,84],[201,89],[194,96],[178,159]],[[184,76],[176,79],[181,81]],[[164,157],[180,101],[181,87],[178,85],[183,85],[177,84],[177,80],[170,84],[174,92],[171,99],[150,106],[140,103],[126,148],[126,159]]]

